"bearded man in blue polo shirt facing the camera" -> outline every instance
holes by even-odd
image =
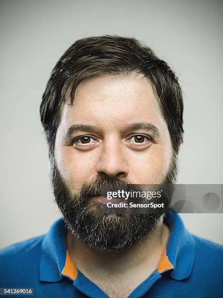
[[[63,219],[1,251],[1,287],[36,297],[222,297],[221,245],[189,234],[176,213],[102,208],[104,185],[176,181],[183,101],[168,65],[134,38],[80,39],[54,67],[40,114]]]

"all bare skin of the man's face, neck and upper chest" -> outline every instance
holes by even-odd
[[[163,181],[171,164],[172,144],[147,78],[130,75],[88,79],[78,86],[73,105],[65,103],[61,112],[55,161],[72,191],[100,175],[128,179],[134,184]],[[126,126],[133,123],[150,123],[159,136],[145,128],[127,130]],[[67,131],[72,125],[88,125],[95,129],[78,130],[68,138]],[[83,136],[88,138],[83,139]],[[83,144],[85,140],[89,143]],[[92,200],[100,202],[100,197]],[[169,229],[161,218],[156,230],[127,253],[89,248],[70,232],[67,247],[80,271],[109,297],[127,297],[155,270],[168,237]]]

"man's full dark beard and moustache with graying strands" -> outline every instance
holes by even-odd
[[[166,189],[166,196],[163,199],[166,205],[171,202],[172,186],[176,181],[177,169],[177,154],[173,153],[171,165],[161,183]],[[128,189],[130,181],[97,176],[74,192],[61,176],[52,156],[51,183],[55,202],[64,217],[67,228],[75,237],[81,238],[90,247],[103,251],[126,250],[152,232],[160,217],[166,214],[160,209],[153,213],[103,212],[102,204],[92,200],[91,197],[101,194],[101,188],[104,185]]]

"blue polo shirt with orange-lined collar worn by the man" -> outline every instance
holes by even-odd
[[[157,269],[129,298],[222,298],[223,246],[190,234],[176,213],[169,213],[164,223],[170,237]],[[1,250],[0,287],[34,288],[34,297],[40,298],[107,298],[76,268],[66,233],[61,218],[46,235]]]

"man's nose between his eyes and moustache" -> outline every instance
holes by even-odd
[[[98,175],[106,175],[110,178],[125,178],[128,175],[129,168],[126,157],[118,141],[116,144],[115,142],[103,144],[96,170]]]

